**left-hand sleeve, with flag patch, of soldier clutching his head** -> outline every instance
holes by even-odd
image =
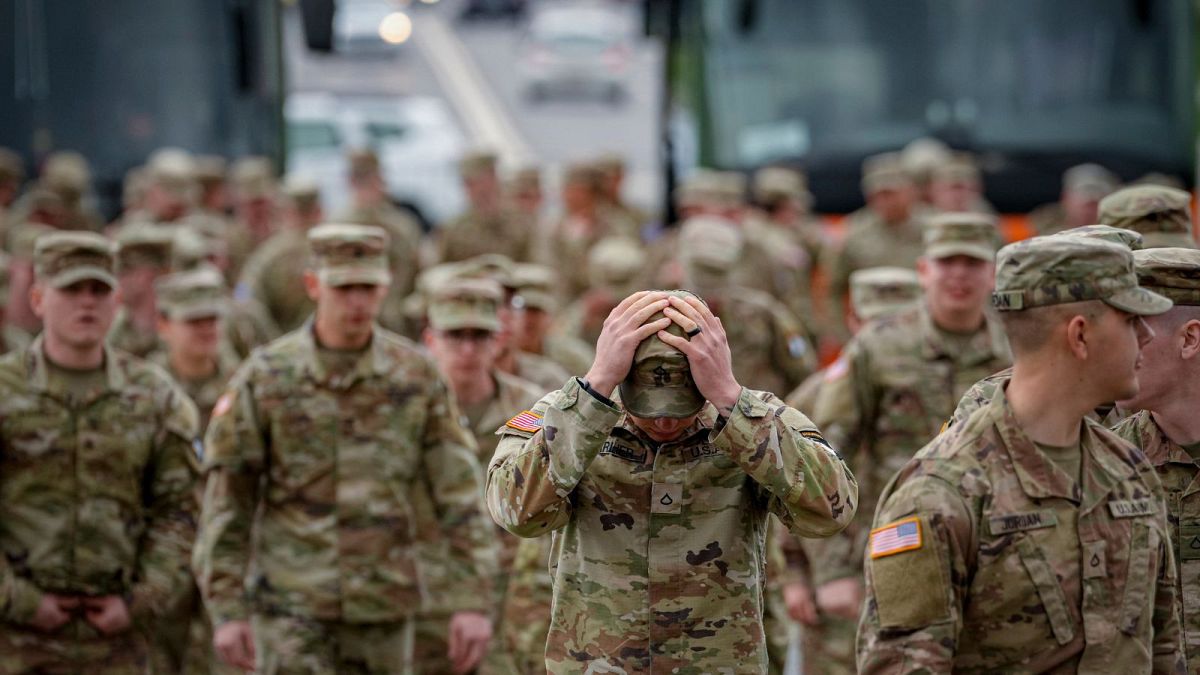
[[[622,416],[583,392],[574,377],[532,412],[541,416],[534,423],[540,429],[505,428],[487,472],[487,508],[518,537],[540,537],[566,525],[571,492]]]

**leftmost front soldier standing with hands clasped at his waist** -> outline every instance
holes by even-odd
[[[145,634],[187,592],[196,407],[110,350],[110,241],[37,241],[44,330],[0,359],[0,671],[136,674]]]

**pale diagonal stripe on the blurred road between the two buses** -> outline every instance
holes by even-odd
[[[445,19],[426,13],[413,20],[416,23],[413,35],[418,48],[475,143],[494,150],[506,165],[533,161],[532,148]]]

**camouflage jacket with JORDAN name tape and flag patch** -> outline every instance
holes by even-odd
[[[875,516],[863,675],[1182,671],[1162,484],[1094,422],[1080,448],[1076,483],[1001,389],[905,466]]]

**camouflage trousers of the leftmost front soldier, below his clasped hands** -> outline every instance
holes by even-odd
[[[83,619],[54,634],[0,625],[0,673],[4,675],[145,675],[146,643],[138,633],[112,638]]]

